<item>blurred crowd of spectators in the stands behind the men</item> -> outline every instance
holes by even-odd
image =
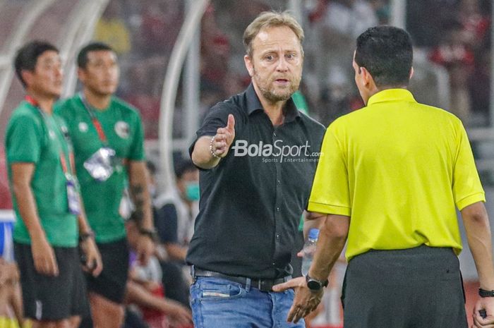
[[[119,51],[123,68],[119,95],[140,109],[147,139],[158,137],[163,77],[185,16],[185,2],[112,0],[97,24],[95,38]],[[363,30],[391,23],[390,5],[389,0],[303,1],[306,40],[301,92],[311,115],[325,125],[363,106],[347,59],[354,50],[354,38]],[[427,65],[416,61],[416,71],[430,74],[430,63],[445,69],[450,88],[447,104],[467,126],[490,123],[490,6],[486,0],[407,1],[406,28],[417,57],[427,61]],[[248,85],[241,35],[259,12],[270,9],[285,10],[287,1],[210,2],[200,32],[200,117],[212,104]],[[437,100],[439,87],[431,88],[431,81],[427,82],[427,88],[426,83],[412,87],[423,91],[424,97],[432,93],[436,105],[444,104]],[[174,115],[177,138],[183,136],[181,102],[179,90]]]

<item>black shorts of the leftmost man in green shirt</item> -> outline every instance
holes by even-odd
[[[39,274],[31,245],[14,243],[23,290],[24,316],[33,320],[59,321],[89,312],[78,248],[54,247],[58,277]]]

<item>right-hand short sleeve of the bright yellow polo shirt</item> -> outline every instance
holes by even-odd
[[[465,128],[459,123],[457,154],[453,168],[453,196],[459,210],[475,202],[485,202],[486,194],[475,166],[469,138]]]

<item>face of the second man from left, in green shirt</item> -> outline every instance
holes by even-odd
[[[88,52],[88,64],[79,68],[79,79],[97,95],[112,95],[119,85],[119,66],[116,54],[109,50]]]

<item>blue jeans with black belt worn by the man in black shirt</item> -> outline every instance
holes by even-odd
[[[216,277],[198,277],[191,286],[195,328],[305,328],[287,322],[294,291],[264,292]]]

